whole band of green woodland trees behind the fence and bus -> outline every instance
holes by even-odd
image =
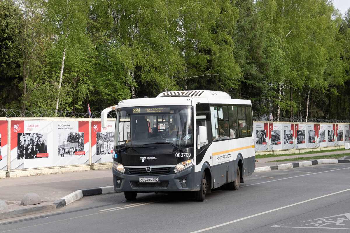
[[[2,0],[0,108],[209,89],[255,116],[349,119],[349,15],[329,0]]]

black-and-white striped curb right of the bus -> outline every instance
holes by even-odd
[[[302,161],[302,162],[296,162],[296,163],[285,163],[285,164],[281,164],[281,165],[273,165],[273,166],[268,166],[268,167],[257,167],[257,168],[255,168],[254,172],[269,172],[271,170],[281,170],[281,169],[288,169],[288,168],[295,168],[295,167],[306,167],[306,166],[324,164],[324,163],[350,163],[350,160],[317,159],[317,160]]]

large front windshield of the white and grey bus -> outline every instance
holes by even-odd
[[[170,148],[193,147],[192,121],[192,106],[119,108],[114,148],[157,144],[169,144]]]

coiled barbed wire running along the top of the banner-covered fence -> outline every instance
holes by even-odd
[[[115,118],[117,113],[111,111],[108,113],[108,118]],[[55,110],[44,110],[44,109],[35,109],[35,110],[16,110],[16,109],[0,109],[0,117],[72,117],[72,118],[89,118],[87,113],[79,113],[73,111],[57,111],[57,116],[55,115]],[[100,118],[101,112],[91,112],[92,118]],[[300,117],[280,117],[273,118],[270,120],[266,115],[254,117],[254,121],[269,121],[269,122],[308,122],[308,123],[349,123],[345,120],[337,119],[317,119],[317,118],[300,118]]]

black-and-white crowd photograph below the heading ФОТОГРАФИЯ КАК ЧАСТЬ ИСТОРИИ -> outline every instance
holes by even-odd
[[[84,132],[60,132],[58,133],[58,156],[74,156],[85,154]]]

